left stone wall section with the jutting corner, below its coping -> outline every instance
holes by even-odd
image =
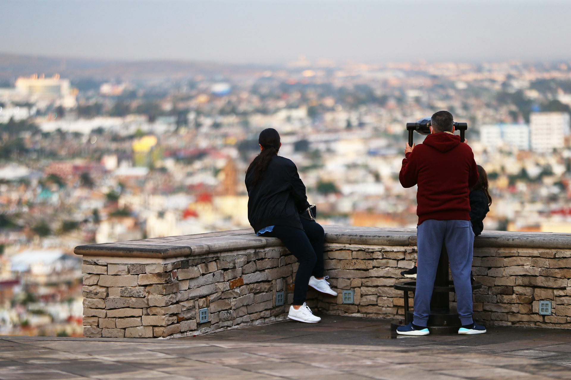
[[[296,270],[281,247],[168,260],[84,257],[83,334],[176,337],[283,320]],[[282,291],[286,305],[276,307]],[[202,308],[208,322],[200,324]]]

